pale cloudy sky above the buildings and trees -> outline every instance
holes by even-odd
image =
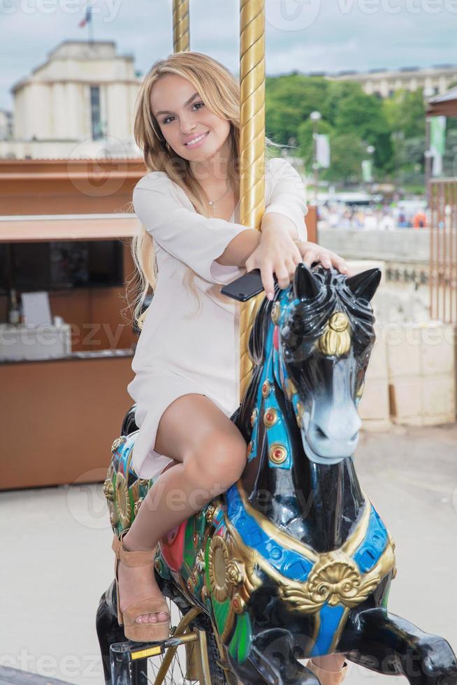
[[[78,27],[86,0],[0,0],[0,108]],[[172,0],[93,0],[94,39],[146,73],[173,52]],[[190,0],[191,50],[238,73],[238,0]],[[457,0],[266,0],[266,74],[457,64]]]

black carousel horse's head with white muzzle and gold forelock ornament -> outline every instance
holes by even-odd
[[[380,277],[377,268],[347,277],[302,263],[291,287],[276,287],[273,302],[263,301],[256,317],[251,356],[264,365],[270,352],[277,354],[277,384],[293,404],[305,453],[315,463],[335,464],[354,454],[357,405],[375,342],[370,300]],[[272,319],[275,349],[268,349]]]

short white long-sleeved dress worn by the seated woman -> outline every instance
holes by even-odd
[[[266,159],[265,205],[265,213],[292,219],[299,239],[306,240],[305,189],[283,158]],[[220,289],[245,268],[215,259],[238,233],[256,229],[238,223],[239,203],[229,221],[203,217],[164,171],[151,171],[138,181],[133,207],[154,238],[158,277],[131,364],[136,375],[127,386],[139,428],[133,434],[131,466],[139,477],[154,478],[172,461],[154,445],[161,415],[173,400],[203,394],[227,417],[240,404],[240,303]],[[196,298],[182,282],[189,267],[196,272],[201,301],[197,314]]]

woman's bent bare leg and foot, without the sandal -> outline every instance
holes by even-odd
[[[245,439],[233,421],[210,398],[199,394],[183,395],[166,408],[154,449],[175,461],[151,486],[124,535],[129,551],[152,549],[162,535],[238,480],[247,459]],[[150,568],[119,562],[118,573],[122,611],[133,602],[161,597]],[[137,622],[155,623],[166,617],[141,614]]]

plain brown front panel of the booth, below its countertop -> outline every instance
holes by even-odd
[[[0,363],[0,489],[101,482],[133,405],[133,352]]]

